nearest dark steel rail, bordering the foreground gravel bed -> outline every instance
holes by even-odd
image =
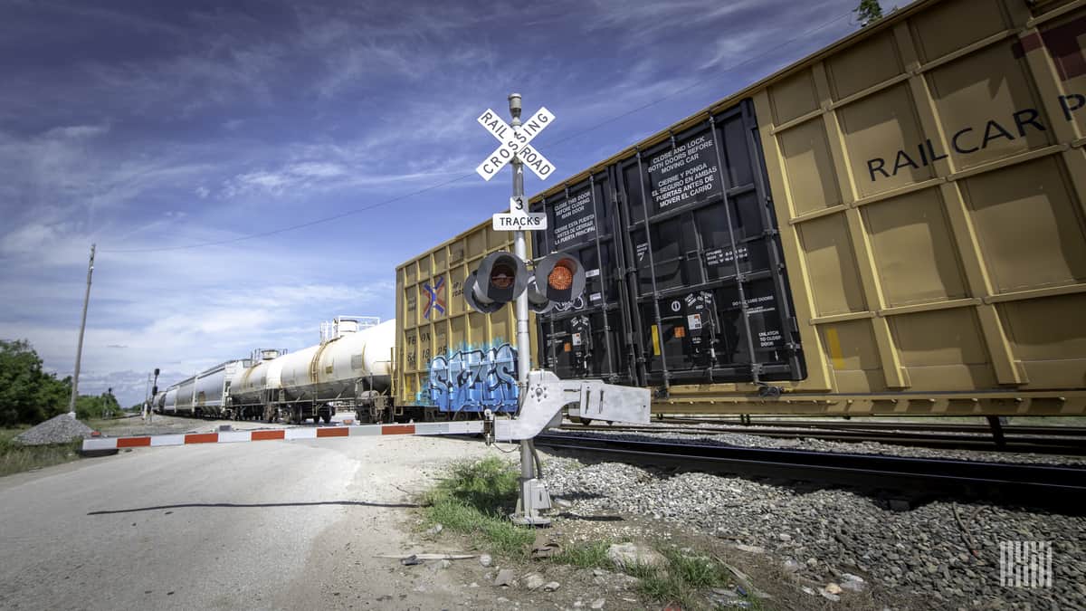
[[[1084,511],[1086,467],[631,441],[544,434],[535,445],[686,471],[859,487],[913,498],[957,498]]]

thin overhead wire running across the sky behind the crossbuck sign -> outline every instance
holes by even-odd
[[[787,47],[788,45],[792,45],[793,42],[795,42],[795,41],[797,41],[799,39],[806,38],[807,36],[810,36],[811,34],[815,34],[816,32],[819,32],[819,30],[825,29],[826,27],[830,27],[831,25],[839,22],[843,18],[848,17],[849,15],[851,15],[851,12],[845,13],[843,15],[838,15],[838,16],[836,16],[836,17],[834,17],[834,18],[832,18],[832,20],[830,20],[830,21],[828,21],[825,23],[817,25],[817,26],[815,26],[815,27],[812,27],[812,28],[810,28],[810,29],[808,29],[806,32],[803,32],[803,33],[796,35],[793,38],[790,38],[788,40],[782,42],[781,45],[776,45],[774,47],[771,47],[769,50],[767,50],[767,51],[765,51],[762,53],[759,53],[757,55],[752,55],[752,57],[749,57],[749,58],[747,58],[747,59],[745,59],[745,60],[743,60],[743,61],[741,61],[738,63],[732,64],[732,65],[730,65],[730,66],[721,70],[720,74],[723,74],[723,73],[727,73],[727,72],[731,72],[731,71],[736,70],[738,67],[742,67],[742,66],[744,66],[744,65],[746,65],[746,64],[748,64],[750,62],[760,60],[760,59],[769,55],[770,53],[773,53],[773,52],[779,51],[780,49],[782,49],[784,47]],[[564,138],[558,138],[557,140],[554,140],[552,142],[552,145],[561,145],[561,144],[568,142],[570,140],[573,140],[576,138],[580,138],[581,136],[583,136],[583,135],[585,135],[585,134],[588,134],[590,132],[595,132],[596,129],[599,129],[601,127],[609,125],[609,124],[611,124],[611,123],[614,123],[614,122],[616,122],[616,121],[618,121],[620,119],[624,119],[627,116],[630,116],[631,114],[641,112],[641,111],[643,111],[645,109],[648,109],[648,108],[652,108],[652,107],[654,107],[654,105],[656,105],[656,104],[658,104],[660,102],[664,102],[665,100],[669,100],[669,99],[671,99],[671,98],[673,98],[673,97],[675,97],[675,96],[678,96],[680,93],[684,93],[684,92],[686,92],[686,91],[689,91],[689,90],[693,89],[694,87],[697,87],[698,85],[702,85],[702,84],[703,84],[702,80],[695,79],[694,83],[691,83],[690,85],[686,85],[685,87],[680,87],[680,88],[678,88],[678,89],[675,89],[675,90],[673,90],[673,91],[671,91],[669,93],[666,93],[666,95],[664,95],[664,96],[661,96],[659,98],[656,98],[655,100],[653,100],[651,102],[646,102],[644,104],[641,104],[640,107],[635,107],[633,109],[630,109],[630,110],[628,110],[628,111],[626,111],[623,113],[620,113],[620,114],[617,114],[617,115],[615,115],[615,116],[613,116],[610,119],[604,120],[604,121],[602,121],[602,122],[599,122],[599,123],[597,123],[595,125],[578,129],[577,132],[574,132],[574,133],[572,133],[572,134],[570,134],[570,135],[568,135],[568,136],[566,136]],[[358,214],[358,213],[365,212],[367,210],[374,210],[375,208],[380,208],[382,205],[388,205],[390,203],[395,203],[397,201],[405,200],[405,199],[408,199],[408,198],[412,198],[412,197],[415,197],[415,196],[419,196],[419,195],[422,195],[425,192],[432,191],[434,189],[440,189],[442,187],[446,187],[449,185],[452,185],[453,183],[457,183],[457,182],[463,180],[463,179],[465,179],[467,177],[470,177],[472,175],[475,175],[473,172],[469,173],[469,174],[463,174],[463,175],[457,176],[455,178],[450,178],[449,180],[445,180],[445,182],[442,182],[442,183],[438,183],[438,184],[431,185],[429,187],[424,187],[421,189],[416,189],[416,190],[411,191],[411,192],[402,194],[402,195],[399,195],[399,196],[395,196],[395,197],[392,197],[392,198],[389,198],[389,199],[386,199],[386,200],[381,200],[381,201],[378,201],[378,202],[375,202],[375,203],[371,203],[371,204],[368,204],[368,205],[364,205],[362,208],[355,208],[353,210],[348,210],[345,212],[341,212],[339,214],[333,214],[331,216],[323,216],[320,219],[315,219],[313,221],[307,221],[305,223],[299,223],[296,225],[288,225],[286,227],[280,227],[278,229],[272,229],[272,230],[268,230],[268,232],[261,232],[261,233],[256,233],[256,234],[247,234],[247,235],[243,235],[243,236],[238,236],[238,237],[223,239],[223,240],[205,241],[205,242],[190,244],[190,245],[185,245],[185,246],[168,246],[168,247],[159,247],[159,248],[131,248],[131,249],[104,249],[103,248],[103,249],[99,249],[99,252],[165,252],[165,251],[171,251],[171,250],[188,250],[188,249],[192,249],[192,248],[206,248],[206,247],[212,247],[212,246],[225,246],[225,245],[228,245],[228,244],[237,244],[237,242],[240,242],[240,241],[245,241],[245,240],[251,240],[251,239],[256,239],[256,238],[263,238],[263,237],[267,237],[267,236],[274,236],[274,235],[282,234],[282,233],[286,233],[286,232],[292,232],[294,229],[303,229],[305,227],[312,227],[314,225],[320,225],[320,224],[324,224],[324,223],[330,223],[332,221],[338,221],[338,220],[346,217],[346,216],[352,216],[354,214]]]

